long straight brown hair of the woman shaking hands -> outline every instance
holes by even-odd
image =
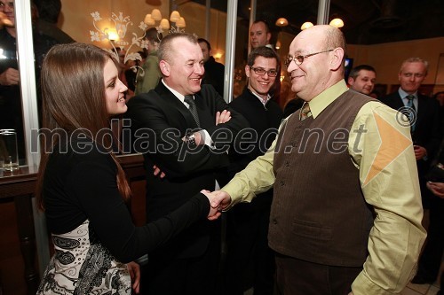
[[[72,134],[86,129],[93,139],[100,129],[109,128],[103,70],[112,55],[96,46],[84,43],[59,44],[52,47],[44,58],[41,84],[43,94],[43,128],[54,134]],[[44,209],[44,171],[59,136],[41,136],[42,158],[38,171],[36,198]],[[105,141],[118,141],[109,139]],[[102,143],[99,143],[102,144]],[[111,146],[110,143],[103,143]],[[109,154],[117,166],[117,187],[124,199],[131,190],[115,154]]]

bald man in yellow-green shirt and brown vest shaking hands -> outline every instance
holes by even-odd
[[[211,206],[227,210],[274,186],[268,245],[283,294],[400,293],[424,243],[406,117],[349,90],[344,59],[337,27],[295,37],[287,71],[305,105],[264,156],[214,192]]]

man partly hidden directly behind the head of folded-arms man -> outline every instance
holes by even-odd
[[[203,55],[203,67],[205,68],[205,74],[202,78],[202,84],[213,85],[214,89],[218,91],[221,97],[224,97],[224,74],[225,66],[218,63],[216,59],[211,56],[211,45],[203,39],[197,39],[199,46],[202,49]]]

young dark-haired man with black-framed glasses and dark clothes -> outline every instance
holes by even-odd
[[[230,150],[229,176],[263,155],[273,143],[281,124],[282,111],[272,99],[270,89],[279,79],[279,56],[262,46],[250,52],[245,66],[248,85],[230,106],[250,122],[238,137],[248,143]],[[227,255],[225,294],[242,295],[252,286],[256,294],[274,291],[274,255],[268,247],[267,233],[273,189],[258,195],[251,204],[235,206],[227,213]],[[252,264],[252,267],[251,267]],[[251,274],[245,276],[245,274]]]

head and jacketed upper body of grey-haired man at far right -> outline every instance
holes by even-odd
[[[424,217],[426,216],[425,210],[430,208],[432,198],[430,190],[427,190],[425,186],[424,175],[430,167],[430,160],[433,159],[440,146],[442,128],[440,105],[436,99],[418,93],[418,89],[427,75],[427,67],[428,62],[422,58],[406,59],[400,66],[398,74],[400,89],[380,99],[385,105],[400,110],[409,118],[423,198]],[[409,101],[413,105],[409,105],[411,104]],[[424,221],[427,222],[425,219]]]

